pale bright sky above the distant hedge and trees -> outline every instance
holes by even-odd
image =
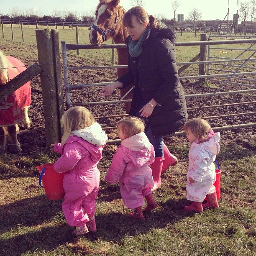
[[[12,10],[18,9],[26,13],[26,10],[33,10],[39,16],[54,15],[72,11],[78,17],[92,14],[99,3],[99,0],[0,0],[0,13],[10,14]],[[156,17],[173,18],[172,0],[143,0],[144,7],[148,14]],[[157,4],[156,4],[157,3]],[[178,13],[184,13],[187,18],[189,11],[196,7],[202,13],[202,20],[223,20],[228,13],[229,20],[233,20],[233,13],[236,13],[237,0],[180,0]],[[129,10],[131,0],[120,0],[120,5]]]

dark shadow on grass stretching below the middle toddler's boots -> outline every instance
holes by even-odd
[[[115,241],[122,243],[122,239],[126,236],[136,236],[138,234],[146,234],[152,229],[166,228],[177,221],[186,218],[192,213],[184,212],[183,207],[187,200],[168,200],[165,203],[159,203],[159,208],[152,212],[145,213],[145,220],[136,220],[128,216],[127,213],[110,212],[108,214],[100,214],[96,216],[97,234],[87,236],[87,239],[94,241],[102,239],[105,241]]]

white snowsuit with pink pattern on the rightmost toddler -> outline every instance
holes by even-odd
[[[210,132],[207,141],[194,141],[189,150],[189,170],[187,172],[187,200],[202,202],[207,194],[216,191],[213,183],[216,181],[215,161],[220,152],[220,133]],[[189,177],[195,180],[189,182]]]

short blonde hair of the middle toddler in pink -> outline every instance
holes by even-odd
[[[142,133],[145,129],[145,123],[140,118],[127,117],[118,121],[117,128],[122,131],[125,138],[130,138],[133,135]]]

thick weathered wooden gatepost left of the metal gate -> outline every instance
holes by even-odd
[[[58,33],[58,31],[54,31],[54,34],[56,33]],[[41,73],[41,86],[47,147],[53,143],[61,141],[61,118],[59,115],[62,114],[59,113],[60,102],[59,100],[56,100],[56,98],[59,98],[60,96],[59,92],[56,91],[56,81],[59,81],[59,74],[61,74],[61,72],[60,66],[55,67],[55,64],[60,63],[60,61],[56,60],[58,56],[54,56],[59,54],[59,52],[56,48],[53,50],[54,46],[57,47],[53,41],[55,42],[56,38],[52,40],[52,33],[50,33],[48,29],[36,30],[38,61],[44,69],[44,72]],[[59,74],[56,74],[57,69]],[[63,104],[61,105],[61,108],[63,108]]]

